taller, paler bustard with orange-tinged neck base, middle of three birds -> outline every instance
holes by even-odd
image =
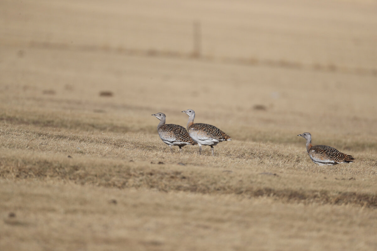
[[[219,128],[213,125],[195,123],[195,111],[186,110],[182,111],[189,115],[189,121],[187,122],[187,131],[189,131],[190,137],[199,145],[199,155],[202,154],[202,145],[211,146],[212,156],[213,146],[216,146],[221,141],[231,140],[230,136]]]

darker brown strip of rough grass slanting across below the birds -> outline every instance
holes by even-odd
[[[156,168],[135,167],[132,163],[70,163],[69,161],[29,160],[14,157],[0,158],[0,177],[8,180],[69,180],[85,185],[102,187],[148,188],[159,191],[184,191],[202,194],[234,194],[248,198],[272,197],[285,202],[319,203],[333,205],[359,205],[377,208],[377,195],[358,192],[328,190],[274,189],[257,185],[232,183],[232,177],[224,182],[216,178],[208,179],[203,173],[182,170],[160,170]],[[278,177],[281,178],[281,177]]]

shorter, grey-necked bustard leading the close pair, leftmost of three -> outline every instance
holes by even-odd
[[[183,126],[175,124],[165,124],[166,115],[163,113],[152,114],[160,123],[157,126],[158,135],[161,140],[170,146],[170,151],[173,153],[172,146],[178,146],[179,151],[182,152],[182,146],[185,145],[196,145],[195,141],[190,138],[186,129]]]

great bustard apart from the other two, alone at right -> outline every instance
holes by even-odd
[[[311,134],[309,132],[304,132],[303,134],[299,134],[297,136],[301,136],[307,140],[308,154],[311,160],[320,166],[333,166],[340,163],[352,163],[355,160],[351,155],[343,154],[331,146],[311,145]]]

